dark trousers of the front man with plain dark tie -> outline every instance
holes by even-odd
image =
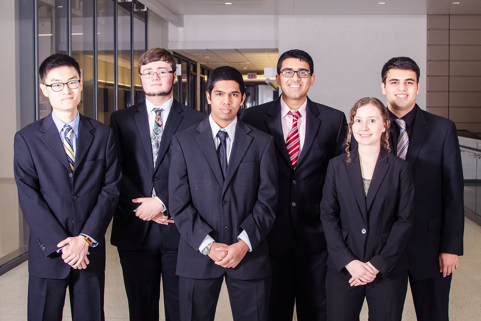
[[[227,273],[215,279],[190,279],[181,276],[180,320],[214,321],[224,277],[233,320],[266,321],[271,278],[239,280],[229,277]]]

